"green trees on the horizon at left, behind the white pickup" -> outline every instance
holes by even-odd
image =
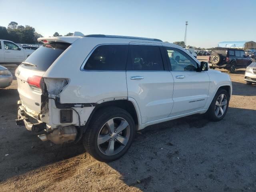
[[[72,36],[73,33],[68,33],[65,36]],[[53,34],[54,37],[62,36],[58,32]],[[29,25],[22,26],[18,25],[17,22],[10,22],[8,27],[0,26],[0,39],[10,40],[15,43],[27,43],[36,44],[38,43],[37,38],[43,37],[37,33],[35,28]]]

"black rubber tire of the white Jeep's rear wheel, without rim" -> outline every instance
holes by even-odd
[[[100,151],[98,147],[98,135],[102,127],[112,118],[122,118],[126,120],[130,127],[130,136],[127,144],[117,154],[108,156]],[[96,160],[102,162],[114,161],[122,157],[130,148],[135,135],[135,123],[132,116],[126,111],[118,107],[106,107],[95,112],[90,124],[84,134],[83,144],[86,151]],[[110,142],[110,141],[107,141]],[[116,142],[115,142],[116,143]]]

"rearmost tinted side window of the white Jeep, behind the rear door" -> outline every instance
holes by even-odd
[[[85,70],[125,70],[128,45],[101,45],[90,55]]]

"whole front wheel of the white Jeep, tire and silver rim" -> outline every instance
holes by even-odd
[[[230,96],[224,89],[219,89],[215,94],[206,115],[212,121],[220,121],[226,115],[228,110]]]

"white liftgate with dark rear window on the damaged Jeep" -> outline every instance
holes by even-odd
[[[40,83],[40,77],[68,46],[70,46],[68,43],[44,44],[16,69],[15,76],[18,82],[20,99],[22,104],[30,110],[37,113],[41,111],[42,91],[40,88],[29,84],[28,79]]]

